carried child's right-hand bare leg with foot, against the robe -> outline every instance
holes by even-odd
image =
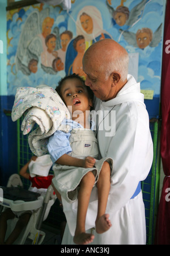
[[[111,187],[111,168],[108,162],[104,162],[97,181],[98,209],[96,217],[96,232],[101,234],[111,228],[109,214],[105,213],[108,195]]]

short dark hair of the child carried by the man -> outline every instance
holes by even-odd
[[[75,73],[73,75],[69,75],[69,76],[65,76],[63,77],[63,79],[61,79],[59,82],[58,82],[58,86],[56,87],[56,92],[58,93],[58,95],[62,98],[62,94],[61,94],[61,88],[62,88],[62,85],[63,85],[63,82],[67,79],[79,79],[82,84],[84,86],[85,85],[85,82],[84,82],[84,79],[82,77],[80,77],[79,75],[76,75]],[[90,99],[93,101],[94,100],[94,93],[92,92],[92,90],[90,89],[89,86],[86,86],[87,88],[87,92],[88,92],[88,96],[90,97]],[[63,100],[63,98],[62,98]]]

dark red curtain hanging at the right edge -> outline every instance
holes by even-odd
[[[169,41],[169,42],[168,42]],[[162,64],[160,153],[165,174],[155,230],[155,244],[170,244],[170,0],[167,1]],[[169,188],[169,189],[168,189]],[[166,191],[167,189],[167,191]],[[168,195],[169,194],[169,195]]]

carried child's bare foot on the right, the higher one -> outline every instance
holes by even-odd
[[[109,220],[109,214],[103,214],[96,220],[96,232],[98,234],[106,232],[109,228],[111,228],[112,224]]]

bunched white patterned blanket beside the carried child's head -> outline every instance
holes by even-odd
[[[29,147],[37,156],[48,152],[48,137],[58,129],[64,118],[70,118],[69,110],[61,97],[56,90],[47,85],[18,88],[12,107],[12,121],[16,121],[22,115],[24,119],[21,130],[24,135],[32,130],[35,123],[38,125],[28,136]],[[62,130],[65,131],[65,127],[62,126]]]

